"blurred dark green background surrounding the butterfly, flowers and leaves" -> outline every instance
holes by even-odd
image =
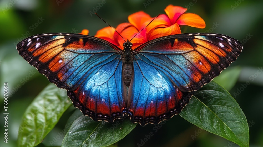
[[[18,41],[24,37],[41,33],[80,33],[82,29],[88,29],[89,35],[95,35],[97,30],[107,26],[97,16],[90,15],[93,7],[98,6],[102,0],[61,1],[0,1],[0,91],[2,95],[3,84],[8,82],[9,93],[14,93],[8,99],[8,144],[3,143],[4,106],[3,96],[0,97],[0,144],[5,147],[17,146],[17,131],[25,109],[49,83],[43,75],[19,56],[15,48]],[[255,74],[258,68],[263,66],[263,1],[148,0],[149,5],[147,1],[140,0],[105,1],[106,3],[99,7],[97,13],[113,27],[126,22],[128,15],[134,12],[142,10],[151,17],[155,17],[159,13],[164,14],[165,7],[173,4],[187,7],[189,9],[187,12],[200,15],[206,22],[205,29],[184,26],[181,28],[182,33],[207,32],[210,29],[209,31],[213,33],[225,34],[242,41],[244,49],[237,61],[229,67],[230,69],[239,66],[242,70],[238,82],[229,93],[236,99],[247,117],[250,126],[250,146],[263,146],[263,72]],[[144,3],[147,4],[146,8]],[[44,20],[33,28],[32,25],[37,23],[39,18]],[[214,24],[219,25],[216,27]],[[33,73],[33,76],[30,72]],[[251,75],[254,74],[258,76],[252,78]],[[244,89],[241,88],[247,81],[250,84]],[[240,88],[243,90],[241,94],[234,95]],[[60,135],[63,129],[69,129],[70,121],[74,120],[74,116],[80,115],[82,114],[78,109],[70,107],[43,143],[38,146],[60,146],[63,137],[52,145],[50,140],[54,141],[54,137]],[[69,117],[71,120],[68,120]],[[137,146],[137,143],[140,143],[141,139],[144,139],[145,135],[150,132],[153,132],[154,135],[143,146],[237,146],[224,138],[195,127],[180,116],[171,118],[157,132],[153,130],[153,127],[154,125],[151,124],[146,127],[138,125],[118,142],[118,146]]]

